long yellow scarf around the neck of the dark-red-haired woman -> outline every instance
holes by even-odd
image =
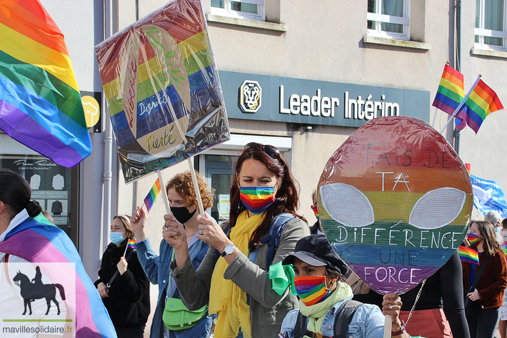
[[[236,225],[231,230],[231,241],[239,251],[248,255],[248,242],[264,219],[265,213],[248,217],[248,211],[239,214]],[[246,292],[229,279],[224,278],[225,270],[229,267],[224,257],[216,261],[211,287],[209,291],[209,313],[218,313],[216,320],[215,338],[234,338],[238,335],[239,327],[245,338],[250,338],[250,307],[246,304]]]

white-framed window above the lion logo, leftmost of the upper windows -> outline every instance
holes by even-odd
[[[211,14],[264,21],[265,0],[211,0]]]

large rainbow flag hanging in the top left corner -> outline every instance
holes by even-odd
[[[55,22],[38,0],[0,3],[0,129],[56,163],[91,154],[74,70]]]

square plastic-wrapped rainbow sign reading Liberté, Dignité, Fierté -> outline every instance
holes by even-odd
[[[175,0],[95,47],[125,181],[227,141],[198,0]]]

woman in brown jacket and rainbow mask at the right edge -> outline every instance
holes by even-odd
[[[470,234],[479,239],[470,240]],[[472,220],[469,226],[468,239],[472,248],[479,253],[480,265],[462,262],[463,285],[468,289],[474,284],[477,272],[483,264],[484,271],[477,282],[475,290],[467,294],[473,301],[472,312],[467,316],[471,338],[493,337],[500,315],[503,294],[507,287],[507,264],[505,255],[500,250],[495,236],[495,228],[488,221]],[[485,262],[485,259],[488,259]]]

